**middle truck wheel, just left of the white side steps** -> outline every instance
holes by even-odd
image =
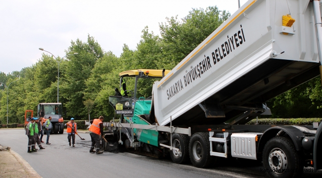
[[[213,162],[210,156],[209,134],[193,134],[189,143],[189,155],[193,166],[197,168],[207,168]]]

